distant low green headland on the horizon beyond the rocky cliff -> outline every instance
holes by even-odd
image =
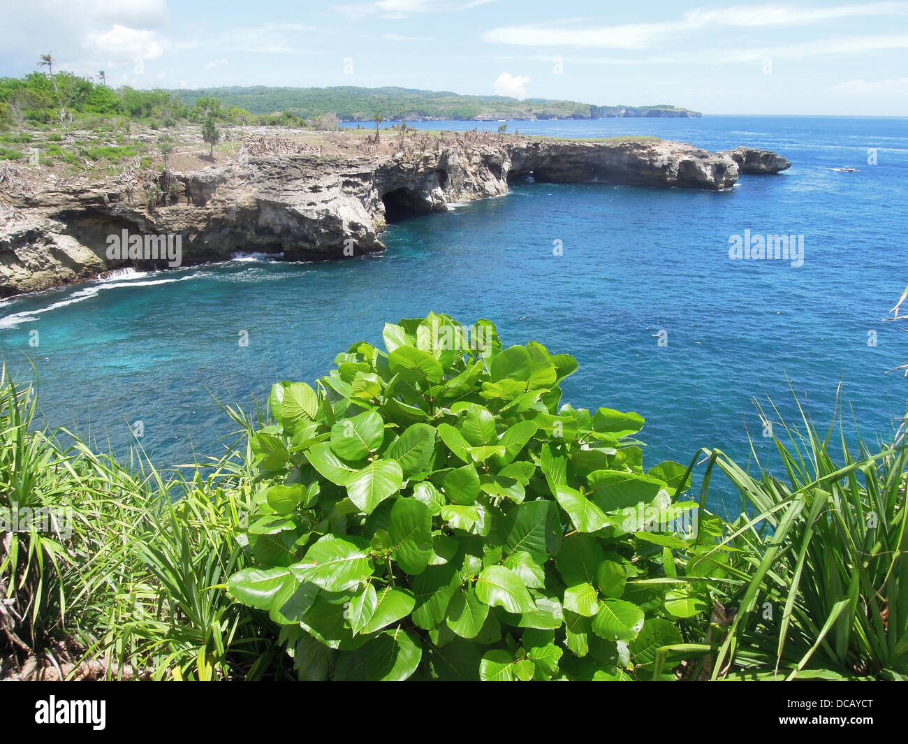
[[[445,119],[497,121],[512,119],[605,118],[693,118],[698,111],[668,104],[653,106],[599,106],[576,101],[528,98],[518,101],[502,95],[459,95],[448,91],[422,91],[410,88],[328,88],[220,87],[171,91],[183,103],[217,98],[226,107],[236,106],[252,114],[289,111],[305,117],[334,114],[342,122],[371,122],[376,112],[386,121],[427,122]]]

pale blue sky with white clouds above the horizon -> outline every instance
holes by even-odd
[[[908,2],[5,0],[0,75],[36,70],[47,51],[143,88],[401,85],[908,115]]]

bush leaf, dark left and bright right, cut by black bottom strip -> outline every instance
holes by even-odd
[[[361,649],[341,653],[334,666],[334,680],[402,682],[419,667],[419,638],[404,630],[385,630]]]

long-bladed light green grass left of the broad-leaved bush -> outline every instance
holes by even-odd
[[[104,678],[281,676],[267,617],[222,585],[246,565],[249,471],[233,454],[164,480],[35,428],[36,396],[0,372],[0,657],[7,673]],[[140,453],[139,462],[143,462]],[[202,473],[206,474],[202,474]],[[50,531],[25,511],[59,515]],[[24,527],[25,531],[21,531]]]

